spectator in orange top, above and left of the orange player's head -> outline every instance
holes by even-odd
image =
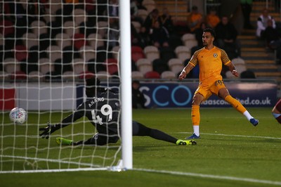
[[[202,21],[203,16],[198,12],[198,7],[192,6],[192,11],[188,16],[188,27],[190,27],[190,32],[194,32],[197,28],[200,28]]]

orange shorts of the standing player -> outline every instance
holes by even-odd
[[[206,101],[213,93],[218,96],[218,91],[220,89],[226,89],[226,85],[224,85],[223,80],[217,80],[211,84],[202,84],[202,82],[200,82],[194,95],[196,93],[200,93],[202,96],[204,96],[204,101]]]

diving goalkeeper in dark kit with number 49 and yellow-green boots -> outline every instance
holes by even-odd
[[[100,80],[96,77],[86,79],[86,96],[88,99],[79,105],[71,115],[65,117],[59,124],[48,124],[47,127],[40,128],[42,131],[40,136],[48,139],[49,136],[56,130],[67,127],[81,117],[86,116],[91,124],[96,127],[98,133],[94,134],[87,140],[74,142],[65,138],[56,138],[59,145],[78,146],[78,145],[93,145],[103,146],[107,143],[117,143],[119,140],[119,125],[120,103],[119,95],[110,91],[107,88],[100,86]],[[175,143],[176,145],[196,145],[195,141],[185,141],[174,138],[169,134],[165,134],[157,129],[145,127],[139,122],[132,122],[133,136],[150,136],[157,140]]]

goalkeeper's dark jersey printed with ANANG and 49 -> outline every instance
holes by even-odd
[[[77,110],[70,115],[63,123],[72,122],[86,116],[96,127],[100,134],[118,134],[119,132],[119,95],[111,91],[98,92],[97,96],[88,98],[79,105]]]

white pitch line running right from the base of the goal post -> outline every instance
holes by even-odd
[[[182,175],[182,176],[195,176],[201,178],[209,178],[209,179],[224,179],[230,181],[245,181],[252,183],[266,183],[271,185],[281,186],[281,181],[267,181],[267,180],[259,180],[259,179],[250,179],[250,178],[240,178],[235,176],[220,176],[220,175],[212,175],[212,174],[196,174],[196,173],[186,173],[186,172],[171,172],[165,170],[154,170],[154,169],[133,169],[141,172],[152,172],[152,173],[161,173],[161,174],[174,174],[174,175]]]

